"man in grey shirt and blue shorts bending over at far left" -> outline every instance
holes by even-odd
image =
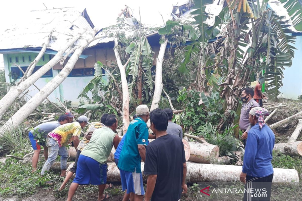
[[[41,145],[43,146],[43,154],[45,160],[48,158],[48,151],[47,151],[47,146],[45,143],[37,142],[34,138],[37,137],[37,133],[40,133],[41,136],[44,138],[47,138],[47,135],[50,131],[53,131],[55,128],[59,127],[60,125],[66,124],[69,121],[69,117],[67,115],[61,115],[59,116],[58,121],[50,121],[46,122],[40,125],[37,125],[34,127],[33,130],[29,131],[28,137],[29,140],[31,141],[31,146],[34,149],[34,155],[32,159],[32,166],[33,170],[31,172],[34,172],[37,170],[37,165],[38,165],[38,160],[39,160],[39,155],[41,152]],[[35,135],[34,135],[35,133]]]

